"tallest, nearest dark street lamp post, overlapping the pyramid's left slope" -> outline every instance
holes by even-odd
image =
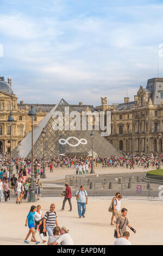
[[[30,179],[30,199],[29,202],[35,202],[35,174],[34,174],[34,149],[33,149],[33,119],[36,115],[34,106],[30,107],[28,115],[32,121],[32,169],[31,169],[31,179]]]

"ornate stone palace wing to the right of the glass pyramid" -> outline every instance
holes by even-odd
[[[140,86],[133,102],[125,99],[106,109],[111,110],[109,142],[122,153],[162,152],[163,78],[148,80],[146,88]]]

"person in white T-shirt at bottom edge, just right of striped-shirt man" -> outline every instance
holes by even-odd
[[[65,227],[62,227],[60,230],[61,236],[53,243],[50,243],[49,245],[57,245],[58,243],[61,243],[61,245],[73,245],[73,240],[70,234],[68,234],[68,229]]]

